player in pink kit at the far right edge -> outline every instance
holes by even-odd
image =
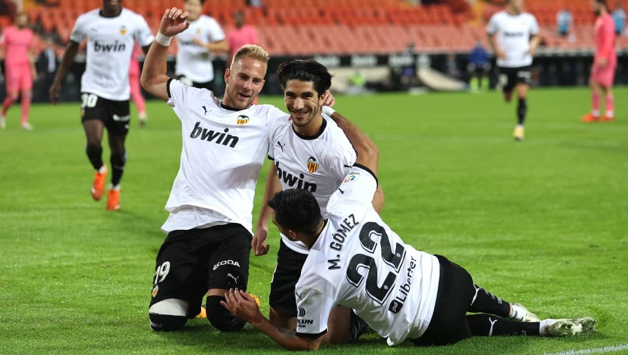
[[[611,121],[615,119],[612,91],[617,67],[615,23],[609,14],[606,0],[591,0],[591,7],[598,16],[594,25],[596,52],[589,78],[593,108],[589,114],[583,116],[582,121]],[[605,96],[606,114],[603,116],[600,116],[600,89]]]

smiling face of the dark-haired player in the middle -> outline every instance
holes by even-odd
[[[295,127],[307,127],[311,122],[322,120],[322,102],[322,98],[318,96],[313,82],[293,79],[286,83],[284,103]]]

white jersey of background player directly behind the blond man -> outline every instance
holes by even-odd
[[[211,53],[206,48],[195,45],[192,40],[200,39],[203,43],[211,43],[224,38],[224,32],[215,19],[200,15],[196,21],[191,21],[190,27],[176,36],[176,75],[186,76],[196,83],[213,80]]]

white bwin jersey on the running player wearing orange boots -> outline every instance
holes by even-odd
[[[79,16],[70,41],[81,43],[87,37],[87,63],[81,78],[81,92],[108,100],[129,100],[129,65],[134,42],[145,47],[154,36],[146,20],[122,9],[116,17],[102,17],[99,9]]]

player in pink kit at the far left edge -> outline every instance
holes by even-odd
[[[27,27],[28,16],[20,12],[15,17],[15,25],[4,30],[0,46],[4,50],[5,77],[7,97],[2,104],[0,114],[0,128],[6,127],[6,113],[11,105],[17,101],[21,94],[23,129],[31,130],[28,123],[28,111],[30,110],[30,97],[32,94],[32,82],[36,76],[33,57],[32,30]]]

